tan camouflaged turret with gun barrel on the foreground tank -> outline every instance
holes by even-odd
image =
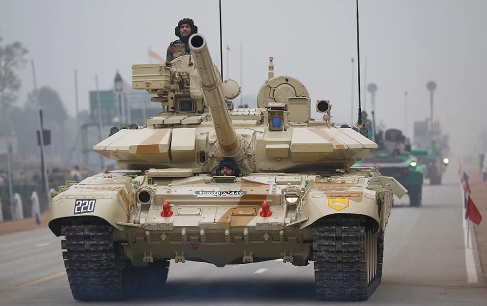
[[[221,81],[204,36],[193,34],[189,46],[191,54],[171,62],[132,66],[132,87],[155,94],[151,101],[161,103],[162,112],[137,129],[111,133],[95,152],[130,170],[187,173],[215,173],[231,158],[247,175],[348,170],[377,148],[353,128],[335,127],[328,100],[316,102],[322,118],[311,118],[307,88],[292,76],[275,75],[272,57],[257,107],[233,109],[240,86]]]

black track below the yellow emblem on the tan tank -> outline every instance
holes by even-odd
[[[316,295],[320,300],[367,300],[382,276],[383,234],[364,216],[335,215],[313,228]]]

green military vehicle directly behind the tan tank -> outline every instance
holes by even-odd
[[[389,129],[385,133],[380,131],[375,138],[379,149],[357,161],[354,168],[379,167],[382,175],[394,177],[408,189],[411,206],[421,206],[423,167],[409,153],[411,148],[406,140],[400,130]]]

